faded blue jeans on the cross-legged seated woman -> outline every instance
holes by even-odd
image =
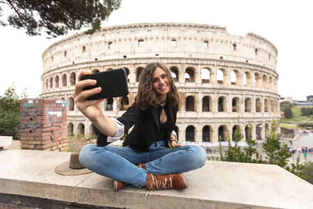
[[[79,154],[79,161],[85,168],[137,187],[145,185],[147,172],[155,175],[184,173],[202,167],[206,158],[201,147],[185,145],[169,149],[164,141],[154,142],[147,153],[133,152],[130,147],[87,144]],[[146,170],[136,166],[139,162],[146,163]]]

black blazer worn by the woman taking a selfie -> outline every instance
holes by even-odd
[[[172,126],[167,130],[167,138],[165,139],[165,144],[168,147],[168,141],[170,134],[175,130],[176,114],[178,106],[167,106],[168,117],[172,121]],[[124,124],[124,133],[127,134],[128,129],[130,129],[134,124],[135,126],[131,132],[125,137],[123,142],[123,147],[130,145],[134,152],[148,152],[151,142],[157,141],[155,137],[160,131],[157,108],[150,107],[144,111],[137,109],[136,102],[134,102],[127,111],[119,117],[119,120]],[[102,134],[94,125],[95,133],[98,134],[97,145],[98,147],[104,147],[109,142],[107,142],[107,136]],[[150,140],[147,140],[150,139]]]

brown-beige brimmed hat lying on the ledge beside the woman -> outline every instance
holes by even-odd
[[[91,170],[86,169],[79,161],[80,150],[71,153],[69,161],[63,162],[56,166],[54,172],[65,176],[75,176],[91,173]]]

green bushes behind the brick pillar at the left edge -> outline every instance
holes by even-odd
[[[20,98],[26,98],[24,93]],[[0,136],[12,136],[13,139],[19,139],[20,129],[20,111],[19,96],[16,93],[14,83],[0,96]]]

